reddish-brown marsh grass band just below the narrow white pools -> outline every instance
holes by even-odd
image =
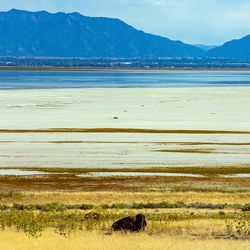
[[[76,174],[1,176],[2,191],[91,191],[91,192],[249,192],[249,178],[206,177],[79,177]]]

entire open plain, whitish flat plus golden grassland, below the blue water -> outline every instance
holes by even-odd
[[[0,249],[249,249],[249,107],[246,87],[1,90]],[[136,213],[144,232],[110,230]]]

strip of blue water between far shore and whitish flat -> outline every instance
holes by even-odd
[[[250,86],[250,72],[0,71],[0,89]]]

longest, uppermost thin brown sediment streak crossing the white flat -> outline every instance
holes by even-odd
[[[233,130],[158,130],[137,128],[50,128],[0,129],[0,133],[148,133],[148,134],[250,134],[250,131]]]

